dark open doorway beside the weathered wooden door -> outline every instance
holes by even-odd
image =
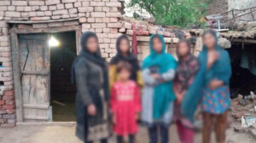
[[[50,34],[60,44],[50,47],[50,94],[54,122],[75,121],[75,87],[71,66],[76,56],[75,31]]]

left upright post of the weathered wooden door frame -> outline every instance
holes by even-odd
[[[18,36],[16,33],[11,33],[11,50],[12,50],[12,61],[13,61],[13,74],[15,83],[15,107],[17,123],[23,122],[23,103],[20,83],[20,54]]]

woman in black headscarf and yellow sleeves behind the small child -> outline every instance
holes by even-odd
[[[143,79],[137,55],[131,53],[130,40],[126,35],[121,35],[116,41],[117,54],[110,60],[109,68],[109,87],[118,80],[117,64],[120,61],[126,61],[131,65],[131,80],[135,81],[140,88],[143,87]]]

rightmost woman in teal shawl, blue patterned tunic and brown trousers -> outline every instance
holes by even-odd
[[[198,57],[200,71],[184,96],[182,112],[193,122],[196,106],[202,100],[203,143],[210,142],[212,125],[217,143],[224,143],[227,110],[230,107],[230,56],[218,45],[216,31],[205,31],[203,43]],[[202,91],[202,94],[198,91]]]

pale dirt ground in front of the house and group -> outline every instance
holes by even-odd
[[[82,143],[74,135],[75,125],[22,125],[15,129],[0,129],[1,143]],[[255,143],[253,137],[248,134],[238,134],[232,128],[227,131],[227,143]],[[212,143],[213,140],[212,134]],[[109,143],[115,143],[114,138]],[[137,143],[148,143],[147,130],[141,128],[137,134]],[[180,143],[176,128],[170,129],[169,143]],[[201,134],[195,134],[195,143],[201,143]]]

